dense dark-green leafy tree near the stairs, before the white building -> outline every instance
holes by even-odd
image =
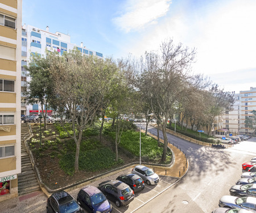
[[[27,103],[40,102],[42,114],[44,118],[44,130],[46,130],[46,115],[49,99],[52,96],[53,82],[49,74],[50,59],[38,54],[31,55],[30,63],[26,67],[28,76],[31,78],[27,81],[27,90],[24,92],[26,95]],[[46,112],[44,113],[44,106]]]

